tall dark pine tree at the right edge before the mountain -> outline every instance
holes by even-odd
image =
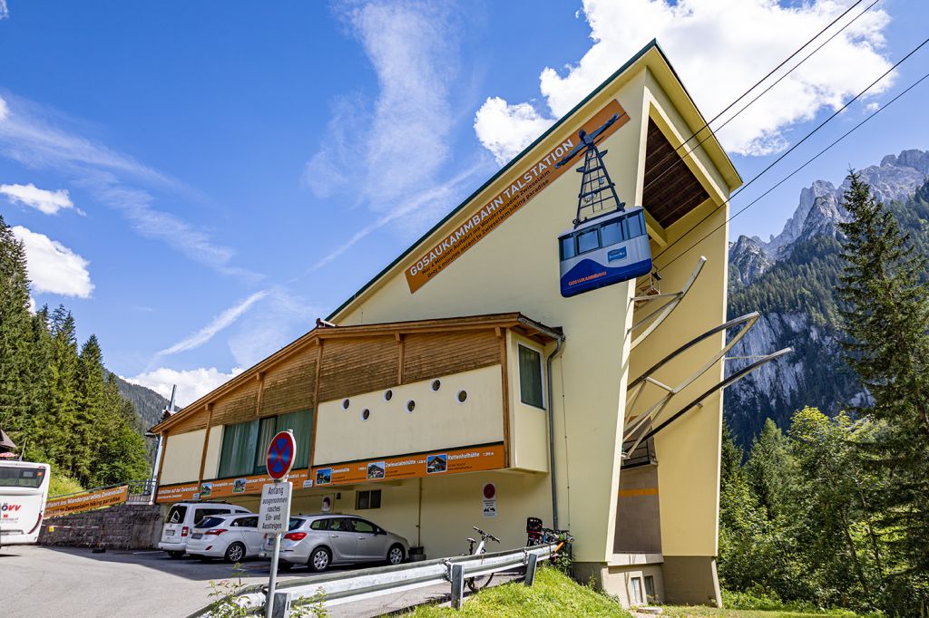
[[[844,193],[851,221],[844,234],[838,288],[846,362],[870,393],[857,412],[882,423],[869,453],[892,476],[882,496],[894,527],[900,567],[929,573],[929,285],[927,261],[902,234],[892,212],[852,172]],[[910,586],[912,587],[912,586]],[[929,599],[922,588],[923,602]]]

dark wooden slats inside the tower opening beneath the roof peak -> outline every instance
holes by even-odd
[[[693,145],[691,144],[691,147]],[[658,125],[648,121],[642,205],[665,228],[710,197]]]

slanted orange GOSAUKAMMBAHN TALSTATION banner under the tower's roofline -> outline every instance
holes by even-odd
[[[604,109],[600,109],[593,118],[583,124],[582,128],[590,133],[607,122],[613,114],[619,114],[620,118],[604,131],[602,136],[606,138],[613,135],[623,124],[629,122],[629,115],[616,100],[610,101]],[[519,168],[520,174],[512,177],[508,187],[487,202],[483,208],[472,213],[470,218],[462,222],[448,237],[442,238],[435,247],[425,251],[419,259],[408,266],[406,278],[410,291],[415,292],[422,288],[429,279],[461,257],[464,251],[471,249],[481,238],[490,234],[497,225],[502,224],[511,214],[539,195],[543,188],[548,187],[558,176],[573,169],[573,165],[555,167],[555,164],[568,154],[571,148],[577,146],[578,142],[576,131],[565,135],[558,145],[542,159],[532,165]],[[570,206],[571,208],[566,207],[565,212],[573,212],[574,204]],[[572,216],[566,217],[566,226],[572,218]]]

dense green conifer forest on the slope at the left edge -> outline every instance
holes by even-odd
[[[85,487],[146,478],[142,422],[97,337],[79,346],[63,305],[29,307],[25,251],[0,217],[0,427],[26,458]]]

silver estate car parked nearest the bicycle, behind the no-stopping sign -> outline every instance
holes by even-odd
[[[271,558],[274,537],[265,538],[261,558]],[[281,565],[306,564],[320,573],[333,564],[406,560],[410,544],[371,521],[353,515],[296,515],[281,538]]]

